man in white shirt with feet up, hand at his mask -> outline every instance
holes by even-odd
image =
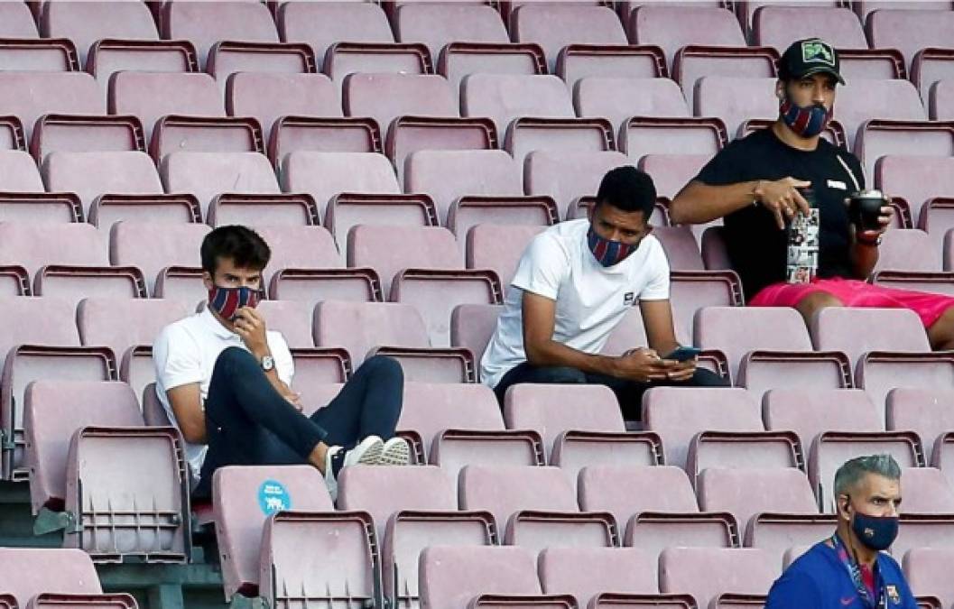
[[[251,229],[225,226],[206,235],[201,256],[207,306],[166,326],[153,345],[156,395],[185,439],[194,496],[211,496],[212,475],[226,465],[310,463],[335,497],[343,466],[407,464],[407,442],[394,437],[401,365],[365,360],[330,404],[302,415],[288,345],[255,309],[268,245]]]

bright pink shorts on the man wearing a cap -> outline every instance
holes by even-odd
[[[947,309],[954,307],[954,297],[951,296],[885,288],[841,277],[814,279],[811,283],[773,283],[759,291],[749,304],[753,307],[794,307],[802,298],[816,292],[831,294],[846,307],[910,309],[921,317],[925,328],[934,325]]]

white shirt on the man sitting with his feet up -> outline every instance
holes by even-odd
[[[286,385],[291,386],[295,376],[295,362],[288,344],[279,332],[266,333],[268,349],[275,358],[275,371]],[[202,408],[209,396],[209,382],[216,367],[218,355],[229,347],[248,351],[239,335],[223,326],[208,309],[202,313],[179,319],[162,329],[153,343],[153,363],[156,365],[156,395],[169,420],[178,427],[173,407],[166,392],[181,385],[198,383]],[[181,431],[181,430],[180,430]],[[205,444],[185,443],[185,455],[198,479],[205,460]]]

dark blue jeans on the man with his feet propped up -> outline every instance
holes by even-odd
[[[377,355],[330,404],[304,416],[275,390],[252,354],[230,347],[218,355],[209,383],[209,450],[194,495],[211,497],[219,467],[302,464],[321,441],[348,449],[367,436],[393,437],[403,399],[401,364]]]

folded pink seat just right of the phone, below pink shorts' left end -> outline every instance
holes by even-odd
[[[706,307],[696,313],[694,331],[695,345],[725,354],[734,384],[757,396],[806,383],[831,389],[851,386],[848,359],[828,350],[811,353],[805,323],[793,309]]]

